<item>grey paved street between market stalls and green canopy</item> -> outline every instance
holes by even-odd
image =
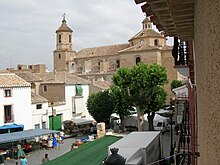
[[[68,138],[64,139],[63,144],[58,145],[58,149],[41,149],[38,151],[31,152],[29,156],[27,156],[28,165],[40,165],[41,160],[43,159],[44,155],[48,153],[50,160],[55,159],[68,151],[70,151],[71,144],[75,141],[75,138]],[[15,165],[18,160],[6,160],[5,165]]]

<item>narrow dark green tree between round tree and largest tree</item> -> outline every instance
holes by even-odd
[[[111,86],[110,95],[114,103],[114,112],[119,115],[121,123],[120,130],[124,131],[124,119],[133,110],[127,90],[123,90],[116,85]]]

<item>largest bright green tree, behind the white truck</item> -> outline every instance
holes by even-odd
[[[149,130],[153,130],[153,118],[166,94],[162,90],[167,80],[166,69],[160,65],[139,63],[129,68],[120,68],[112,78],[113,83],[128,92],[130,101],[138,114],[138,130],[143,130],[144,114],[148,113]],[[153,108],[152,108],[153,107]]]

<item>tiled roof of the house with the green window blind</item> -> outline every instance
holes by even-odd
[[[90,84],[91,82],[66,72],[35,73],[44,83]]]

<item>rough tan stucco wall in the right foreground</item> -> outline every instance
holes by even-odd
[[[220,163],[220,1],[195,1],[199,165]]]

